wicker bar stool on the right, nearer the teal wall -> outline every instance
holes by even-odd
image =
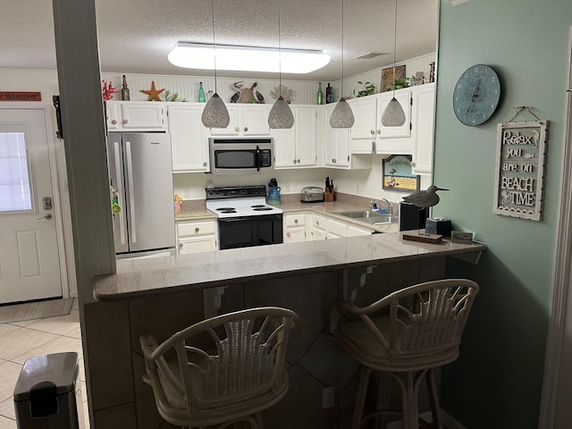
[[[341,301],[338,308],[350,320],[334,317],[331,332],[362,364],[352,429],[374,416],[396,413],[401,414],[404,428],[417,429],[417,392],[424,379],[433,424],[442,429],[433,370],[457,359],[478,290],[470,280],[440,280],[398,290],[367,307]],[[401,410],[381,409],[363,416],[372,371],[386,372],[400,385]]]

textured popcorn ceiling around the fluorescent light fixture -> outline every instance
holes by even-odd
[[[435,51],[438,0],[399,0],[397,62]],[[50,0],[0,0],[0,68],[55,69]],[[177,41],[212,43],[210,0],[96,0],[101,70],[118,73],[211,75],[167,61]],[[393,0],[344,0],[344,75],[393,63]],[[341,0],[281,0],[282,47],[325,49],[332,61],[294,80],[341,76]],[[215,41],[278,46],[278,3],[214,0]],[[370,51],[387,53],[354,60]],[[228,71],[220,76],[271,78],[270,73]]]

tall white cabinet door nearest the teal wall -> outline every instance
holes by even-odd
[[[413,160],[414,174],[431,174],[433,169],[433,124],[435,86],[433,83],[416,88],[413,92]]]

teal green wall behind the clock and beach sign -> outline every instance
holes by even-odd
[[[475,232],[488,251],[476,266],[453,262],[449,276],[481,292],[458,361],[443,370],[442,408],[467,428],[538,427],[564,144],[571,0],[471,0],[442,3],[439,24],[433,215]],[[491,65],[502,83],[489,122],[457,121],[451,97],[458,76]],[[492,213],[497,124],[517,105],[549,121],[542,222]],[[519,120],[534,120],[530,115]]]

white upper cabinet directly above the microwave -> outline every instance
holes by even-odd
[[[268,136],[268,114],[272,105],[227,104],[231,122],[226,128],[213,128],[212,136]]]

